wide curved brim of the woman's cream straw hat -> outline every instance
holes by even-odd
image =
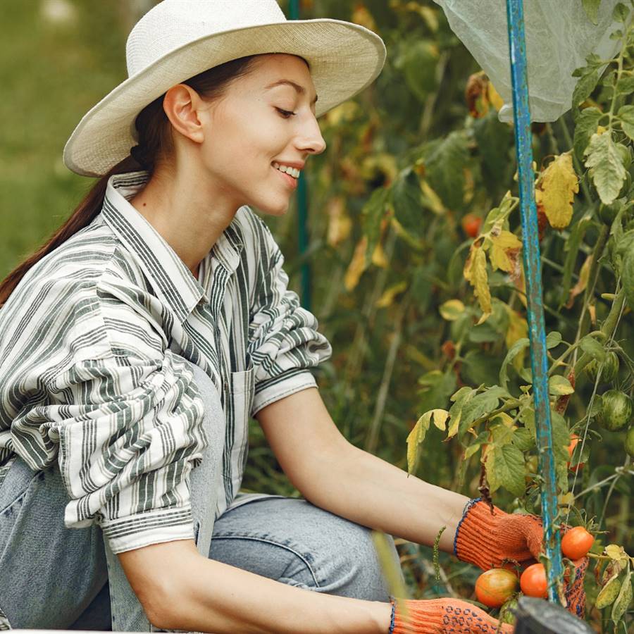
[[[319,97],[318,117],[370,85],[386,56],[383,40],[371,30],[327,18],[242,27],[201,37],[132,75],[91,108],[66,142],[64,163],[82,176],[106,174],[137,143],[135,118],[151,101],[208,68],[266,53],[306,59]]]

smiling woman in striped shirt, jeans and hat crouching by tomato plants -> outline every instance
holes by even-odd
[[[274,0],[163,0],[127,56],[64,152],[99,182],[0,287],[0,628],[494,632],[468,602],[390,600],[370,528],[446,526],[490,568],[536,557],[540,519],[342,437],[310,372],[330,344],[250,209],[285,213],[316,117],[383,42]],[[238,495],[250,416],[305,499]]]

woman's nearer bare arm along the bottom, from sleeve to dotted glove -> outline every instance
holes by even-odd
[[[294,588],[206,559],[193,540],[151,545],[118,557],[149,621],[161,629],[387,634],[390,628],[387,602]]]

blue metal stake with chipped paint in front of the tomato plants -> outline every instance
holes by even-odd
[[[561,540],[554,530],[557,516],[557,485],[552,454],[552,428],[548,398],[548,363],[544,306],[542,303],[542,273],[540,242],[537,230],[537,207],[533,176],[533,148],[531,147],[530,110],[528,107],[528,75],[526,70],[526,39],[522,0],[506,0],[506,19],[509,23],[509,51],[511,54],[511,82],[513,85],[513,118],[517,154],[520,209],[522,216],[522,244],[526,294],[528,304],[528,332],[530,337],[530,368],[533,371],[535,428],[542,486],[542,520],[547,566],[548,598],[559,603],[554,579],[561,574]]]

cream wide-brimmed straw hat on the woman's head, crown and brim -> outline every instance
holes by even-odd
[[[374,32],[342,20],[287,20],[276,0],[163,0],[132,28],[128,79],[89,110],[63,159],[73,172],[102,176],[137,144],[135,119],[170,87],[244,56],[287,53],[310,65],[316,115],[371,84],[385,63]]]

